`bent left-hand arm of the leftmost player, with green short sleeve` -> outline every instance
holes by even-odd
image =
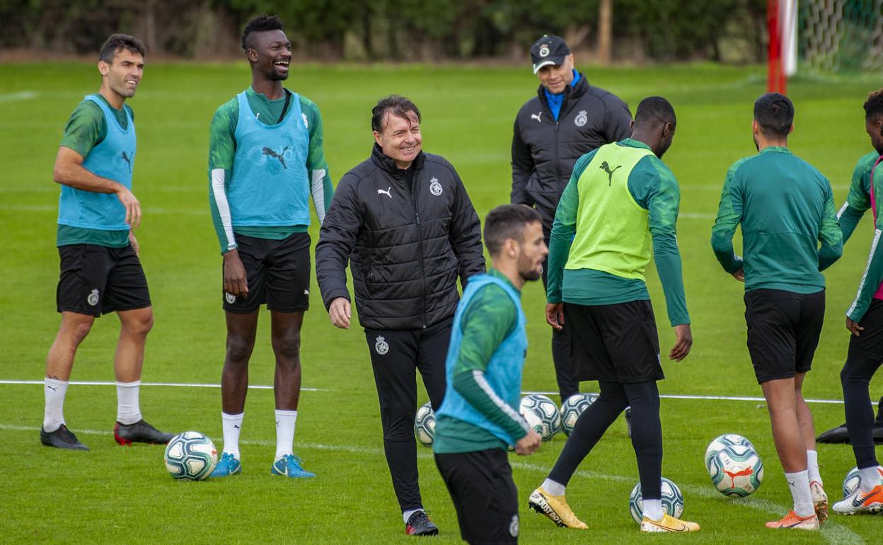
[[[119,182],[96,176],[83,167],[86,156],[107,134],[107,125],[100,106],[84,101],[73,111],[64,127],[64,137],[58,147],[52,179],[80,191],[112,193],[125,207],[125,223],[138,227],[141,222],[141,205],[135,195]]]

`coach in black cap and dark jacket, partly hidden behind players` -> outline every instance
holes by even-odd
[[[549,244],[555,208],[577,159],[604,144],[627,138],[631,113],[616,95],[589,85],[573,68],[573,54],[558,36],[543,36],[531,46],[533,73],[540,78],[537,96],[525,102],[512,135],[513,204],[540,212]],[[547,284],[543,263],[543,286]],[[579,391],[570,373],[570,335],[552,333],[552,359],[562,402]]]

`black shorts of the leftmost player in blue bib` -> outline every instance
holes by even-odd
[[[132,245],[110,248],[94,244],[58,246],[58,312],[101,316],[150,307],[147,277]]]

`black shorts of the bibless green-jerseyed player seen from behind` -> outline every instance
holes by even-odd
[[[748,353],[758,384],[806,373],[825,320],[825,290],[745,293]]]

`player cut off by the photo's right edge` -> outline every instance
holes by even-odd
[[[858,285],[855,301],[846,312],[849,353],[841,371],[843,406],[849,442],[861,473],[859,486],[841,502],[834,503],[834,512],[852,515],[883,510],[883,480],[879,462],[874,455],[874,422],[868,385],[883,362],[883,250],[879,248],[883,218],[879,214],[883,198],[883,89],[868,96],[864,102],[864,129],[871,137],[874,155],[865,155],[872,164],[867,178],[853,177],[849,197],[841,208],[840,225],[844,241],[855,230],[864,212],[872,209],[874,238],[867,268]],[[867,183],[865,184],[865,179]]]

